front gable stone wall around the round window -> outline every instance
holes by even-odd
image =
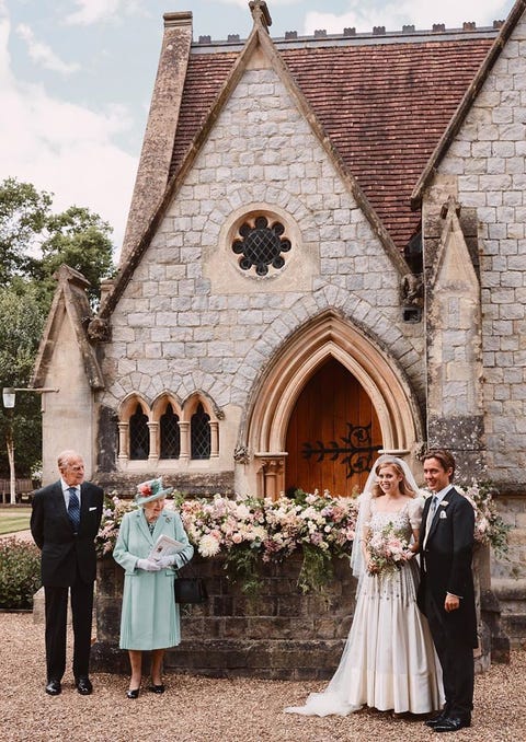
[[[165,391],[181,402],[202,391],[224,414],[217,459],[157,464],[167,475],[182,472],[187,491],[203,472],[244,475],[233,452],[245,444],[258,380],[323,312],[370,337],[398,364],[415,407],[424,405],[423,328],[402,320],[399,265],[293,92],[268,61],[261,65],[244,72],[210,125],[102,347],[106,387],[98,403],[114,414],[134,393],[151,404]],[[236,224],[258,211],[275,215],[291,237],[285,267],[266,277],[241,270],[232,252]],[[251,477],[236,488],[255,491],[255,467]]]

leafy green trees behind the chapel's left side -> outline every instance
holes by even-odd
[[[9,177],[0,183],[0,383],[30,383],[44,322],[49,311],[57,268],[66,263],[91,283],[95,308],[100,285],[114,273],[112,228],[89,209],[71,206],[52,212],[53,194]],[[12,417],[16,472],[28,477],[42,455],[41,398],[16,395]],[[11,418],[0,413],[0,441]],[[0,445],[0,475],[7,476],[7,451]]]

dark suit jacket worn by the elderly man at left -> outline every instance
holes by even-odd
[[[42,583],[67,588],[77,570],[82,582],[96,577],[94,538],[102,518],[103,491],[84,482],[80,487],[80,525],[77,535],[66,510],[60,480],[43,487],[33,497],[31,532],[42,549]]]

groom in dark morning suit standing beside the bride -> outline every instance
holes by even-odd
[[[418,603],[427,616],[444,676],[444,709],[425,722],[435,732],[469,727],[473,708],[473,649],[478,646],[471,572],[474,511],[450,484],[454,474],[449,451],[430,451],[424,456],[425,483],[433,497],[422,513]]]

